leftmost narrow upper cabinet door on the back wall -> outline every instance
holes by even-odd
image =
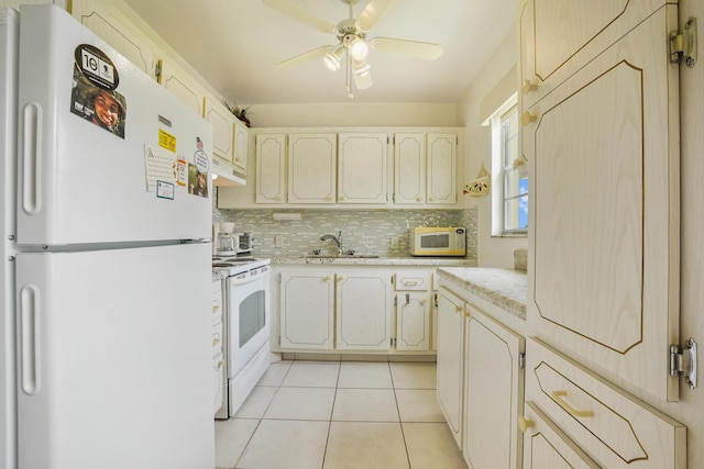
[[[256,136],[256,203],[286,201],[286,135]]]

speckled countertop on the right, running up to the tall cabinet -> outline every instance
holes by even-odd
[[[440,278],[497,305],[506,312],[526,319],[528,276],[520,270],[484,267],[440,267]]]

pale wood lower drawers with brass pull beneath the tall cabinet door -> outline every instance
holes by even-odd
[[[526,344],[526,403],[525,468],[553,467],[536,466],[550,457],[536,443],[548,439],[543,422],[596,464],[581,467],[686,467],[686,427],[534,338]]]

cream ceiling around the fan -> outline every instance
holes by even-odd
[[[158,35],[227,100],[253,103],[350,101],[344,66],[322,59],[293,69],[276,64],[338,38],[314,30],[261,0],[125,0]],[[290,0],[337,24],[343,0]],[[372,51],[374,85],[353,90],[355,102],[458,102],[514,25],[517,0],[397,0],[367,37],[438,43],[443,54],[424,60]],[[358,0],[354,16],[369,0]]]

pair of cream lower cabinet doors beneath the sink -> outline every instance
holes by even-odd
[[[280,348],[388,350],[391,271],[296,270],[280,273]]]

